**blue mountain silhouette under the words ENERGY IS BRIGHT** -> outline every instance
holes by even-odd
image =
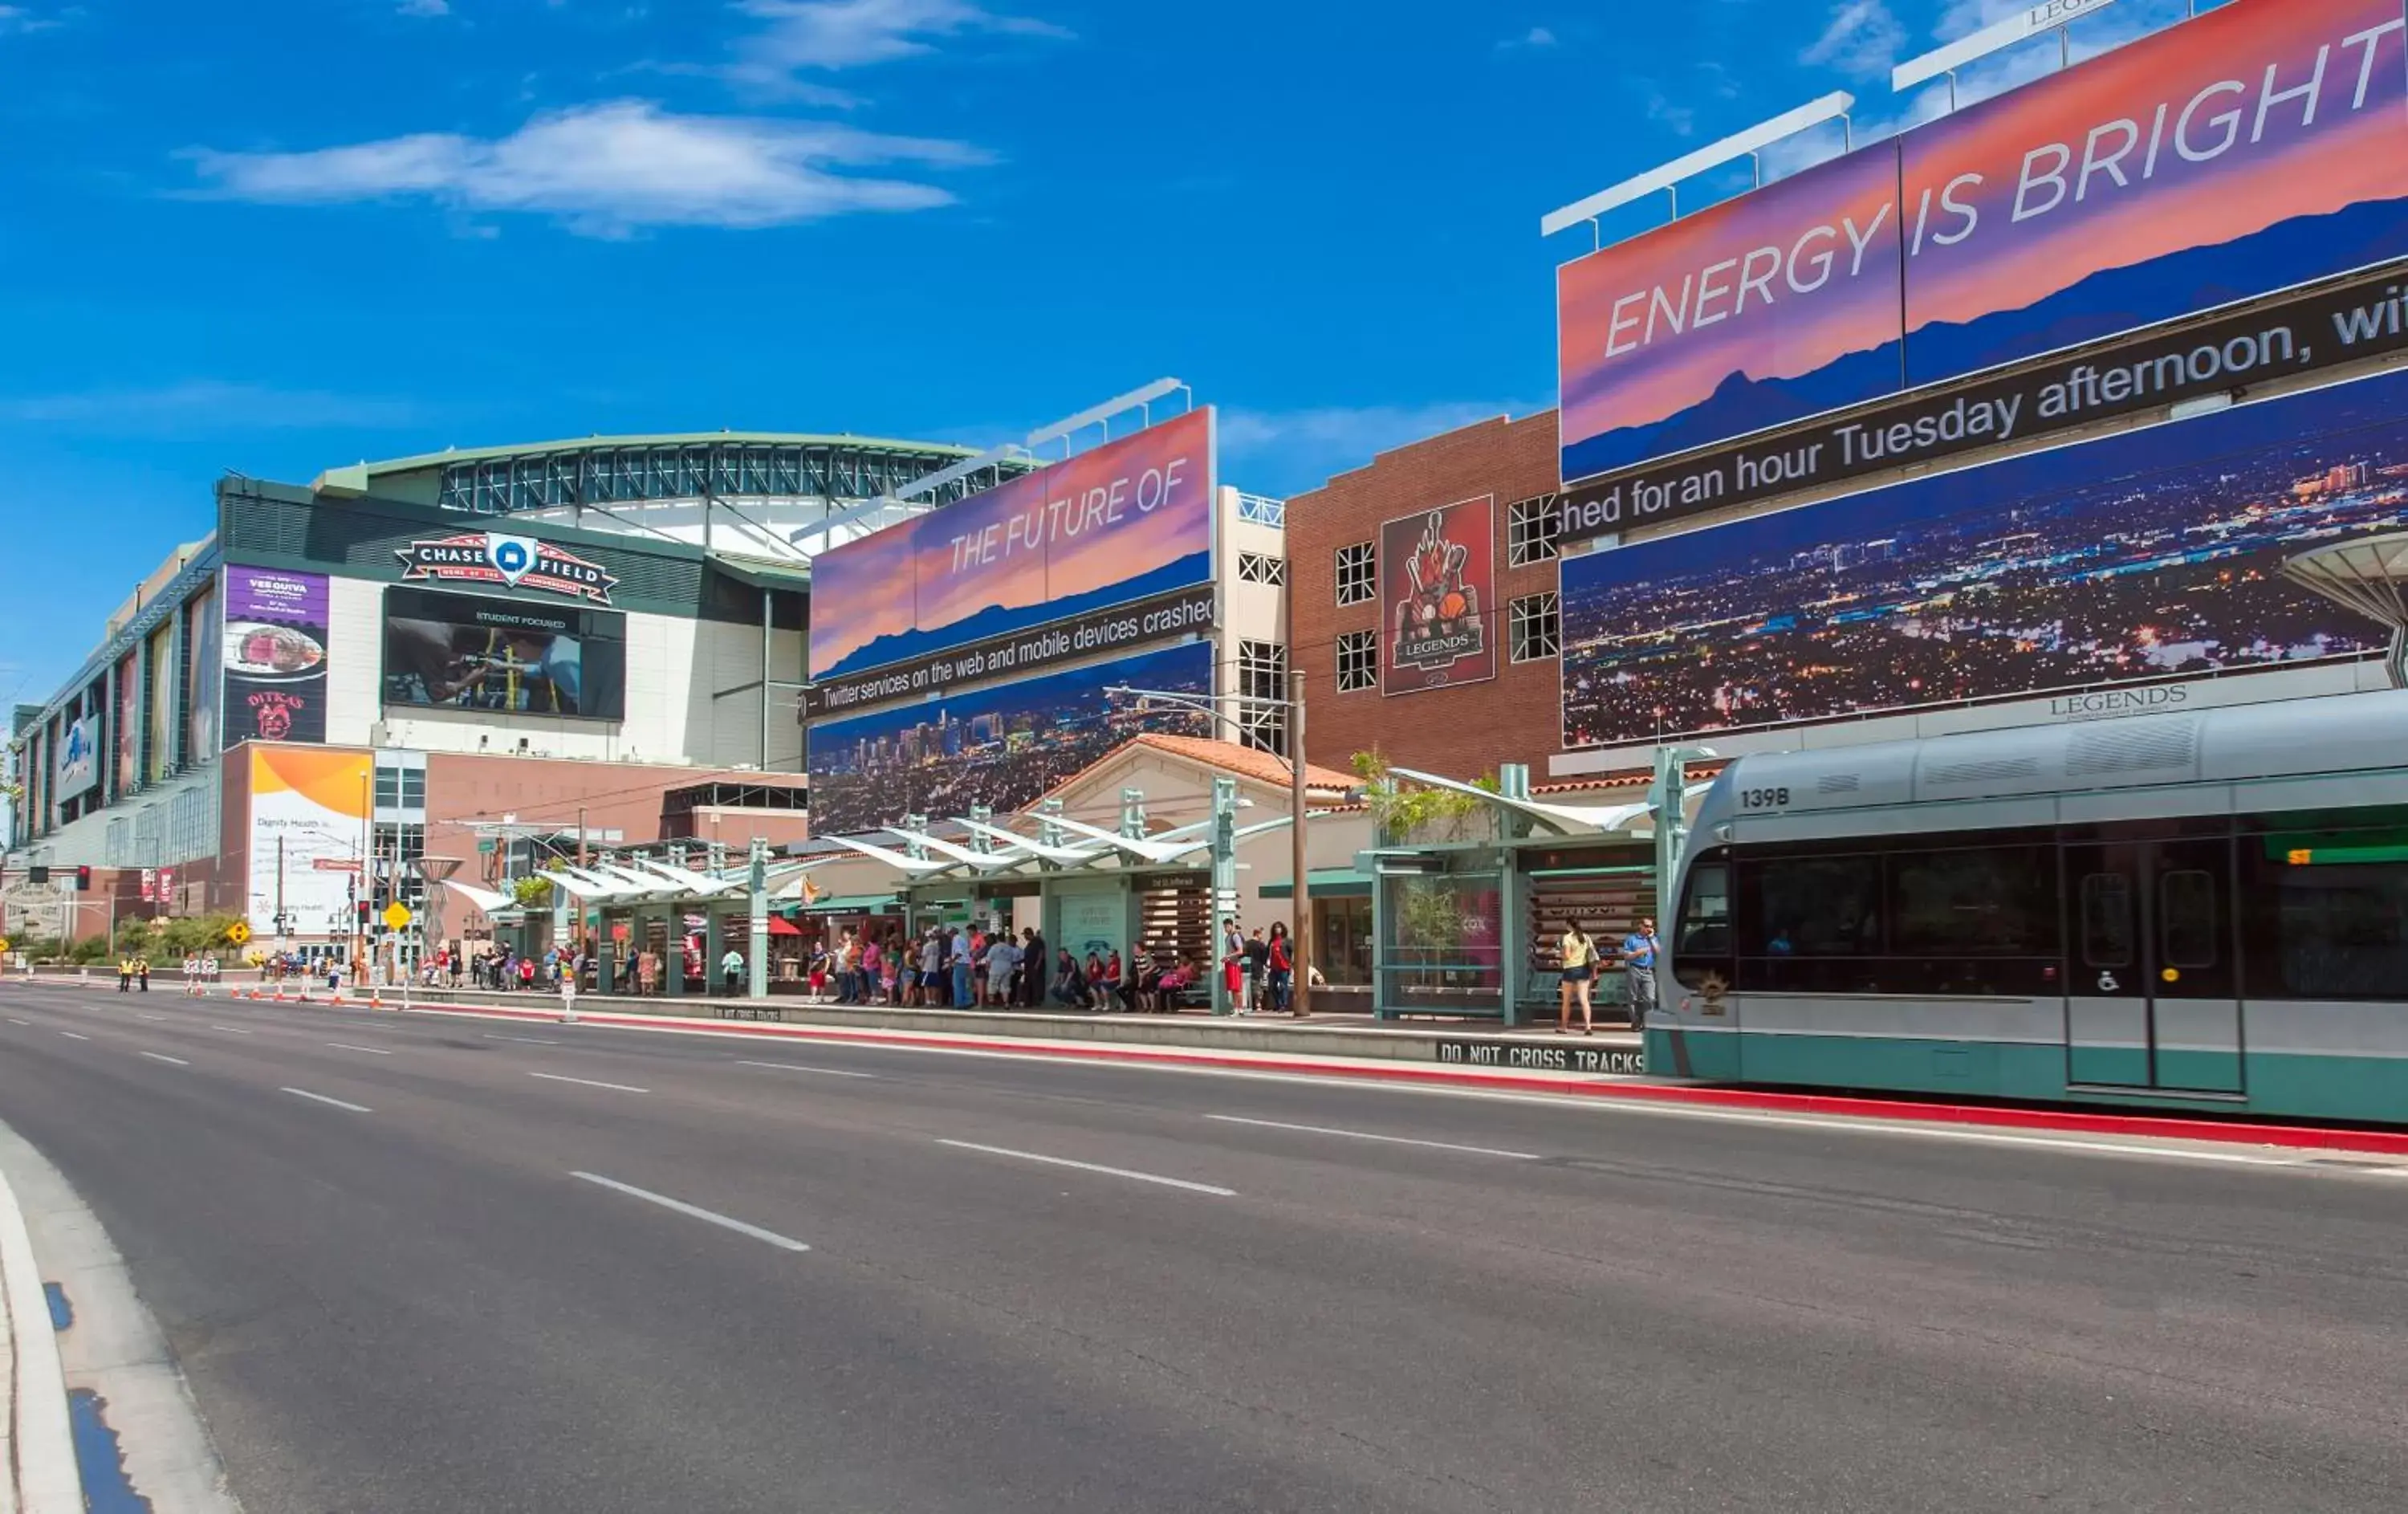
[[[1572,443],[1563,453],[1563,477],[1584,479],[1724,443],[1898,388],[1963,378],[2403,253],[2408,253],[2408,207],[2398,200],[2367,200],[2321,217],[2295,217],[2211,248],[2186,248],[2095,272],[2020,311],[1919,327],[1905,342],[1902,363],[1900,344],[1883,342],[1796,378],[1758,380],[1731,373],[1707,400],[1676,416]],[[1912,279],[1912,265],[1907,272]],[[2312,344],[2314,335],[2302,332],[2302,339]]]

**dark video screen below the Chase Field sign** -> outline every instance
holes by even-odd
[[[388,705],[626,715],[626,616],[484,595],[385,590]]]

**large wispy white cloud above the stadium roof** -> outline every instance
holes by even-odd
[[[949,205],[910,178],[836,173],[881,164],[990,161],[966,142],[886,137],[811,120],[674,116],[604,101],[527,120],[508,137],[417,132],[315,152],[181,154],[231,200],[340,205],[433,200],[465,212],[554,217],[585,236],[641,226],[783,226]]]

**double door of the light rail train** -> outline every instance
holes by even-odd
[[[2232,842],[2066,847],[2066,1081],[2242,1090]]]

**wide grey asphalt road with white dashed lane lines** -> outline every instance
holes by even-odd
[[[250,1514],[2408,1507],[2394,1170],[173,987],[0,1119]]]

